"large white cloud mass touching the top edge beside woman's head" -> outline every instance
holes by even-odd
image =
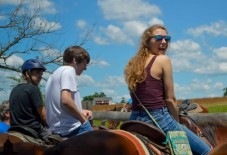
[[[156,16],[160,9],[143,0],[99,0],[98,6],[112,24],[99,29],[93,37],[97,44],[129,44],[140,38],[143,31],[152,24],[163,24]]]

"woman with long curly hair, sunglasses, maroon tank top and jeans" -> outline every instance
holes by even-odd
[[[170,40],[164,26],[149,27],[142,35],[138,52],[126,65],[125,79],[132,98],[130,120],[155,125],[139,105],[139,99],[165,133],[180,131],[182,128],[187,134],[193,154],[205,155],[211,150],[209,146],[192,131],[178,124],[172,65],[170,58],[165,55]]]

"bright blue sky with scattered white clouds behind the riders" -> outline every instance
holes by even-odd
[[[0,5],[16,2],[0,0]],[[79,77],[81,96],[104,92],[113,102],[129,98],[124,67],[137,52],[142,32],[156,23],[164,24],[172,36],[167,55],[177,99],[222,96],[227,87],[226,6],[226,0],[42,0],[43,19],[51,19],[48,22],[62,32],[57,52],[78,43],[80,35],[94,26],[84,45],[92,63]],[[25,57],[12,59],[22,64]],[[10,73],[0,72],[1,83],[10,85],[4,78]],[[1,91],[0,101],[9,93],[10,89]]]

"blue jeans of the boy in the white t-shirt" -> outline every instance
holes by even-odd
[[[80,127],[76,128],[75,130],[70,132],[68,135],[62,136],[62,137],[69,138],[69,137],[80,135],[82,133],[85,133],[85,132],[88,132],[88,131],[92,131],[92,130],[93,130],[93,128],[91,127],[90,122],[87,121],[86,123],[82,124]]]

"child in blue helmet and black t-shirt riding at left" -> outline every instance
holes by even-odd
[[[11,127],[24,126],[35,130],[40,139],[47,141],[50,132],[46,123],[46,109],[38,87],[46,68],[36,59],[21,66],[23,83],[14,87],[9,97]]]

